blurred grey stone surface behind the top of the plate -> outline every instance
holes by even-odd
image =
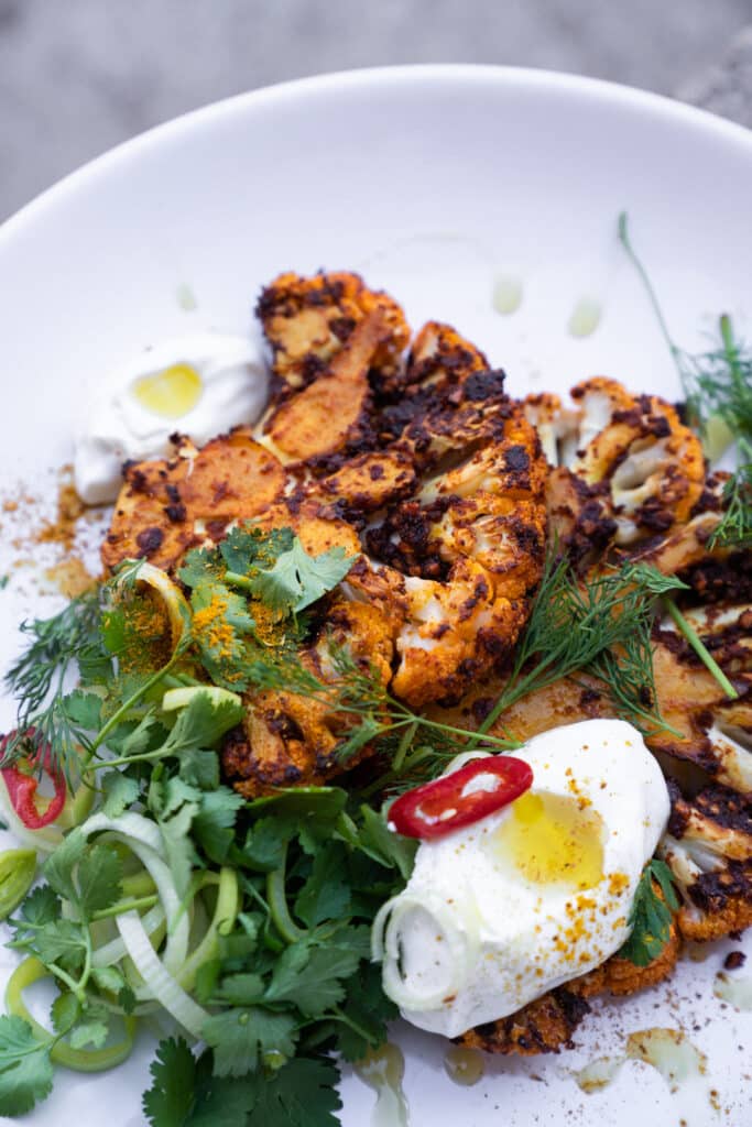
[[[752,0],[0,0],[0,220],[176,114],[352,66],[546,66],[743,118],[713,68],[740,71],[747,23]]]

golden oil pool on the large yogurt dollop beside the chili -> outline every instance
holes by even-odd
[[[603,819],[565,795],[522,795],[487,848],[537,885],[584,890],[603,879]]]

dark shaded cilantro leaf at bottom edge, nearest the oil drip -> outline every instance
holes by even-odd
[[[249,1077],[256,1101],[247,1127],[338,1127],[339,1071],[333,1061],[299,1057],[271,1077]]]

